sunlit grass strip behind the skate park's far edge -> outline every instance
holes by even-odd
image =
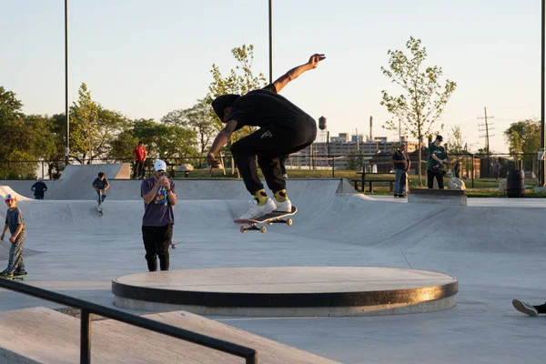
[[[190,172],[188,177],[189,179],[192,178],[235,178],[236,176],[231,176],[229,172],[231,169],[226,169],[226,176],[223,175],[221,170],[216,170],[214,177],[211,177],[208,173],[207,169],[195,169]],[[259,177],[263,178],[263,175],[258,169]],[[177,178],[184,178],[184,172],[177,172],[176,174]],[[308,169],[288,169],[288,177],[290,178],[347,178],[351,185],[352,180],[354,179],[360,179],[361,175],[358,175],[356,171],[354,170],[336,170],[334,176],[332,176],[331,170],[308,170]],[[377,175],[367,175],[366,180],[374,180],[374,179],[389,179],[392,178],[394,180],[394,175],[392,174],[377,174]],[[444,185],[447,187],[448,183],[450,181],[450,178],[444,178]],[[499,194],[499,182],[495,180],[495,178],[480,178],[480,179],[474,179],[474,186],[472,187],[472,180],[471,179],[463,179],[465,185],[466,185],[466,195],[468,197],[502,197]],[[423,187],[426,186],[427,178],[422,177],[422,183]],[[525,180],[526,186],[528,188],[525,189],[525,195],[524,197],[532,197],[532,198],[540,198],[540,197],[546,197],[546,193],[544,192],[534,192],[533,188],[537,185],[536,179],[526,179]],[[410,187],[418,187],[418,177],[417,176],[410,176]],[[370,196],[389,196],[392,192],[389,190],[389,183],[385,182],[378,182],[374,184],[374,192],[369,193],[366,192],[366,195]]]

